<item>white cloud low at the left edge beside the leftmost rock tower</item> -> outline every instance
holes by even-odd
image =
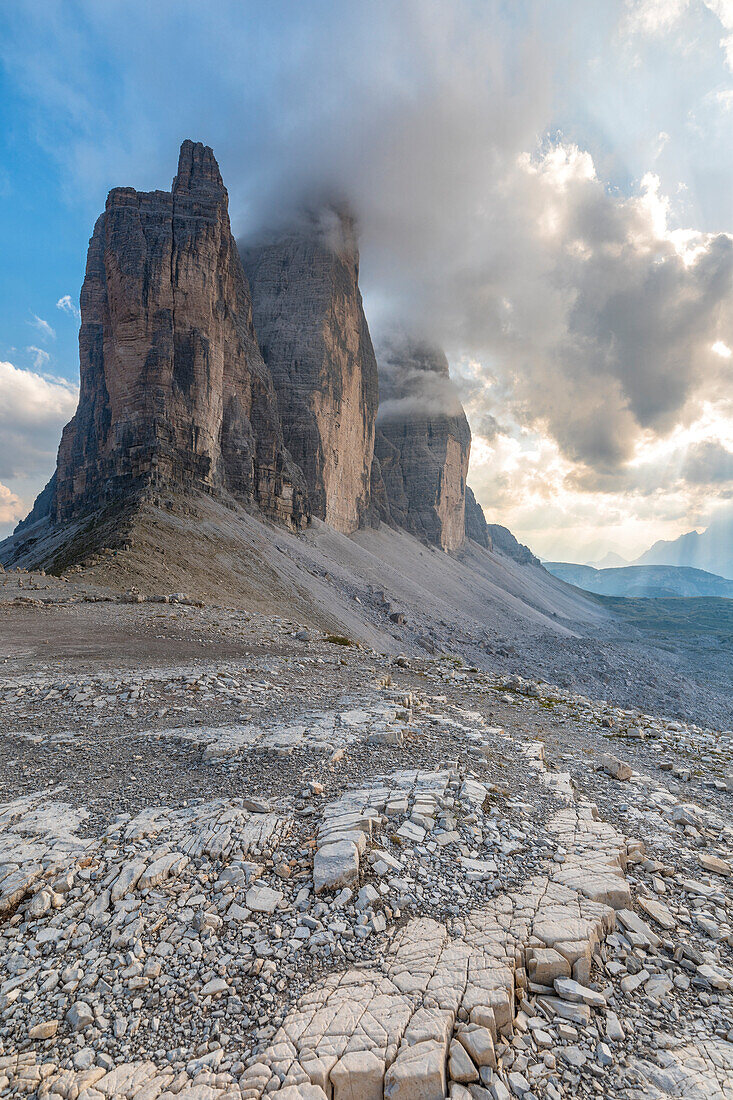
[[[0,479],[47,477],[78,388],[0,361]]]

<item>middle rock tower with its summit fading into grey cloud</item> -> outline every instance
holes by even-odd
[[[313,515],[348,534],[371,509],[379,402],[353,221],[329,209],[241,254],[285,442]]]

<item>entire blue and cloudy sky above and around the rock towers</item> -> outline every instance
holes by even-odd
[[[731,0],[211,9],[0,14],[0,534],[74,408],[106,194],[168,187],[184,138],[242,235],[349,198],[375,336],[444,344],[479,499],[538,552],[633,557],[729,506]]]

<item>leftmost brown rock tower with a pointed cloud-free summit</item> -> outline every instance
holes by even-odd
[[[207,146],[184,142],[172,191],[110,191],[89,243],[79,355],[54,520],[146,488],[196,487],[300,524],[303,479]]]

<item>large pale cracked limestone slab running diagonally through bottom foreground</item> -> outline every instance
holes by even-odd
[[[561,811],[551,825],[572,842],[572,881],[592,882],[595,893],[597,878],[606,876],[619,889],[625,840],[598,821],[593,806]],[[395,936],[381,970],[348,970],[315,986],[256,1055],[242,1080],[243,1096],[259,1100],[283,1086],[310,1081],[338,1100],[341,1059],[355,1052],[370,1053],[370,1089],[379,1064],[385,1097],[402,1100],[431,1094],[431,1089],[444,1096],[445,1080],[419,1078],[426,1058],[416,1057],[416,1045],[430,1044],[425,1054],[445,1072],[459,1012],[486,1026],[494,1042],[500,1035],[511,1038],[517,969],[533,949],[554,948],[577,980],[588,980],[593,948],[613,930],[615,913],[560,881],[564,870],[492,899],[452,933],[429,917],[412,920]]]

